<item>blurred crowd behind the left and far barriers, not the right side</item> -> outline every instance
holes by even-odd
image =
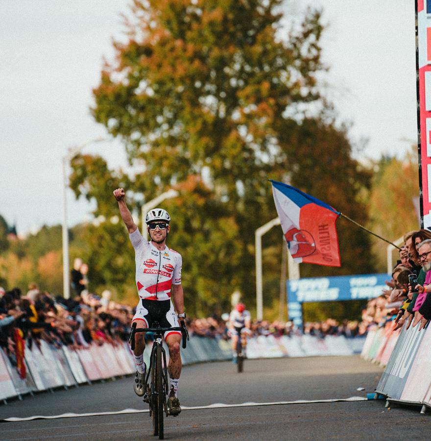
[[[77,294],[79,292],[79,295]],[[41,291],[34,283],[27,293],[19,288],[4,291],[0,288],[0,346],[13,364],[17,364],[19,341],[29,348],[40,346],[41,339],[54,345],[68,345],[72,349],[85,349],[94,342],[117,344],[127,341],[134,309],[110,299],[110,292],[101,296],[88,290],[75,290],[72,299]],[[192,336],[228,340],[229,315],[213,315],[209,318],[187,319]],[[366,331],[358,321],[341,324],[334,319],[306,323],[304,332],[317,337],[344,335],[354,337]],[[255,320],[251,323],[251,336],[299,335],[302,330],[291,321]],[[151,335],[147,335],[151,339]]]

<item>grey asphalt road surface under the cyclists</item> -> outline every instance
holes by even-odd
[[[382,369],[358,356],[246,360],[245,371],[230,362],[183,369],[183,406],[213,403],[326,400],[366,396]],[[0,419],[147,409],[133,392],[132,378],[43,392],[0,406]],[[364,391],[358,392],[357,388]],[[165,419],[166,440],[429,440],[430,414],[417,407],[384,408],[385,401],[184,410]],[[147,413],[2,422],[1,440],[155,440]]]

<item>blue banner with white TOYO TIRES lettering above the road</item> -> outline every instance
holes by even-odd
[[[312,277],[287,280],[289,320],[302,326],[302,303],[375,298],[387,289],[387,274]]]

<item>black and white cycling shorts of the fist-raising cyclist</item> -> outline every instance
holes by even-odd
[[[136,313],[133,316],[132,323],[137,320],[144,321],[145,327],[147,328],[150,328],[155,321],[158,321],[162,328],[179,327],[177,315],[170,299],[141,299],[136,307]],[[140,327],[139,322],[138,327]],[[181,331],[166,331],[163,337],[166,340],[171,334],[181,335]]]

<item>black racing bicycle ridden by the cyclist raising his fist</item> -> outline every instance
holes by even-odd
[[[169,416],[168,403],[166,395],[168,394],[168,371],[166,363],[166,352],[162,345],[163,334],[167,331],[181,331],[182,346],[186,348],[189,340],[184,321],[181,321],[180,327],[162,328],[158,322],[154,322],[151,328],[137,328],[133,323],[130,331],[129,343],[132,351],[135,349],[135,334],[137,332],[153,332],[154,342],[151,349],[150,363],[145,377],[145,392],[143,401],[149,404],[150,417],[153,423],[153,435],[159,436],[159,440],[164,438],[163,413]],[[163,362],[163,363],[162,363]],[[148,384],[148,378],[151,373],[151,384]],[[175,415],[176,416],[176,415]]]

